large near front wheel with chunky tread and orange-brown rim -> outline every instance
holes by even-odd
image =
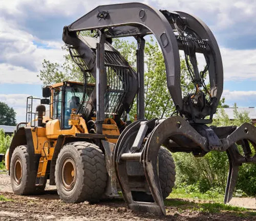
[[[100,200],[106,187],[105,157],[98,146],[73,142],[62,147],[55,166],[59,197],[66,203]]]

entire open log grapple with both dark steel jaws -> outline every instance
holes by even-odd
[[[236,186],[239,166],[256,162],[255,156],[250,156],[248,143],[250,141],[255,147],[255,135],[256,128],[251,124],[245,123],[238,128],[207,127],[189,124],[179,116],[130,124],[122,132],[114,150],[116,176],[128,207],[136,212],[165,214],[158,176],[161,145],[170,151],[201,152],[201,157],[211,150],[226,151],[230,168],[224,203],[228,203]],[[242,145],[244,156],[236,143]]]

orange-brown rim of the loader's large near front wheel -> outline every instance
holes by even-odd
[[[76,164],[72,158],[66,158],[62,166],[61,181],[63,187],[70,191],[76,183]]]

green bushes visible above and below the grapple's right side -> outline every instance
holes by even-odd
[[[248,113],[239,113],[234,105],[234,120],[229,120],[223,109],[219,109],[217,117],[212,125],[216,126],[240,126],[244,122],[251,123]],[[241,147],[239,147],[241,151]],[[173,153],[176,163],[176,185],[193,186],[197,191],[205,193],[209,190],[217,190],[224,193],[229,162],[225,152],[211,151],[202,158],[195,158],[191,153]],[[243,164],[239,168],[239,178],[236,186],[237,195],[256,194],[256,164]]]

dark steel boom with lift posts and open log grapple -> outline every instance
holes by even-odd
[[[81,40],[81,31],[96,31],[96,65],[92,53]],[[146,35],[154,35],[162,50],[167,88],[176,108],[175,116],[145,119],[144,112],[144,45]],[[248,123],[240,127],[207,126],[217,111],[223,91],[223,65],[217,41],[199,18],[185,12],[156,10],[141,3],[98,6],[63,30],[62,39],[76,50],[91,67],[96,79],[96,127],[101,133],[104,119],[106,78],[104,56],[112,38],[133,36],[137,40],[137,121],[127,125],[115,144],[112,166],[127,206],[134,211],[165,214],[159,181],[158,152],[165,146],[170,152],[192,152],[203,157],[209,151],[226,151],[229,174],[225,203],[232,198],[239,166],[256,163],[251,147],[256,147],[256,128]],[[189,77],[195,92],[182,95],[180,52],[184,52]],[[198,67],[199,54],[205,60]],[[114,67],[118,70],[118,64]],[[208,80],[205,80],[205,78]],[[208,84],[208,86],[206,85]],[[129,110],[134,94],[127,91],[123,109]],[[127,112],[129,113],[129,112]],[[250,145],[252,144],[252,145]],[[237,145],[241,145],[243,153]],[[103,146],[106,146],[105,144]],[[107,152],[107,151],[105,151]],[[114,174],[112,179],[115,179]]]

